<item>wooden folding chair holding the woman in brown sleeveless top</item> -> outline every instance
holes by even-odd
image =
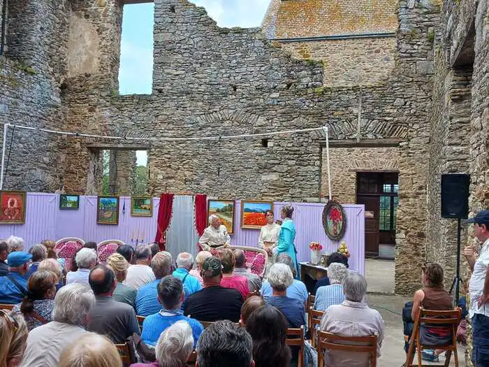
[[[458,367],[458,353],[457,353],[457,328],[460,323],[460,318],[462,317],[462,310],[460,308],[455,308],[455,310],[448,311],[435,311],[435,310],[425,310],[424,308],[419,308],[416,320],[414,320],[414,329],[411,334],[411,340],[409,340],[409,350],[407,351],[405,367],[412,366],[444,366],[447,367],[450,364],[451,354],[453,352],[455,357],[455,367]],[[446,344],[441,345],[423,345],[421,344],[421,325],[430,326],[446,326],[451,329],[451,341]],[[415,349],[418,351],[418,364],[414,365],[414,353]],[[445,364],[423,364],[421,359],[421,352],[423,349],[431,350],[445,350]]]

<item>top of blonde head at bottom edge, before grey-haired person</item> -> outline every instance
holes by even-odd
[[[122,367],[122,361],[108,338],[86,333],[63,350],[59,367]]]

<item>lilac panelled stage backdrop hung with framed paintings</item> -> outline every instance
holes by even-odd
[[[175,200],[179,196],[175,196]],[[0,238],[10,235],[24,238],[26,249],[44,239],[58,240],[63,237],[79,237],[85,241],[119,239],[128,244],[136,244],[136,238],[143,243],[152,242],[156,234],[156,217],[159,199],[153,199],[153,217],[132,217],[131,198],[121,196],[119,200],[119,224],[96,224],[96,196],[80,196],[79,210],[59,210],[58,194],[28,193],[25,224],[0,225]],[[259,229],[241,229],[241,201],[235,202],[235,233],[231,236],[233,245],[258,245]],[[295,245],[299,261],[309,261],[309,243],[316,241],[323,245],[323,252],[334,252],[338,242],[330,240],[323,230],[321,215],[323,203],[275,202],[274,212],[279,219],[280,208],[291,205],[295,208],[293,221],[297,229]],[[349,264],[359,273],[365,272],[365,216],[364,206],[345,205],[346,233],[343,240],[351,252]],[[171,224],[170,224],[171,226]],[[189,243],[189,251],[195,244]]]

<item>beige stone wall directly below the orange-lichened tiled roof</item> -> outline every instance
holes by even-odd
[[[395,36],[279,44],[295,57],[321,60],[328,87],[378,84],[394,69]]]

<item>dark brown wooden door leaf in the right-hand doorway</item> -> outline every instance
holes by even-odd
[[[358,195],[356,202],[365,205],[365,257],[378,257],[380,196]]]

